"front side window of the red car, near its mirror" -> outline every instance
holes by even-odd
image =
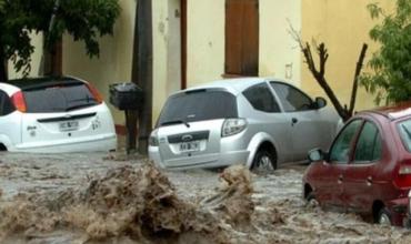
[[[348,163],[351,142],[355,136],[361,123],[362,120],[353,120],[342,129],[330,150],[330,162]]]

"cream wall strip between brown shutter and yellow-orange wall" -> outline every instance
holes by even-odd
[[[260,77],[301,80],[301,55],[290,27],[301,29],[301,0],[260,0]]]

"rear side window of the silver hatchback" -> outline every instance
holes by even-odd
[[[280,106],[267,83],[253,85],[243,91],[242,94],[255,110],[267,113],[280,112]]]

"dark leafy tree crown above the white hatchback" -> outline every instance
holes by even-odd
[[[29,73],[32,32],[46,33],[46,48],[68,33],[86,43],[90,58],[98,55],[98,38],[112,34],[120,6],[118,0],[0,0],[0,80],[7,80],[7,60],[13,62],[16,71]]]

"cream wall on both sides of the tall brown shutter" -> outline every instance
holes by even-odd
[[[259,75],[299,82],[301,57],[289,24],[301,27],[301,0],[260,0]],[[210,18],[211,17],[211,18]],[[225,1],[188,1],[188,87],[224,74]]]

